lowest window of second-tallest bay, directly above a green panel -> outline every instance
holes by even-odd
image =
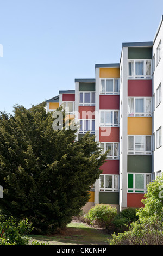
[[[99,191],[117,192],[119,190],[119,175],[99,176]]]

